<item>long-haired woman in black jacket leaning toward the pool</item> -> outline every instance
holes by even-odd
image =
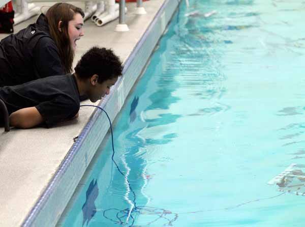
[[[83,17],[82,9],[57,3],[36,23],[1,40],[0,87],[72,73]]]

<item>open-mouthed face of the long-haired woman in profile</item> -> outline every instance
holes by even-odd
[[[84,35],[82,29],[83,24],[84,20],[79,13],[75,13],[73,20],[70,20],[68,23],[68,34],[74,51],[76,49],[76,41]]]

